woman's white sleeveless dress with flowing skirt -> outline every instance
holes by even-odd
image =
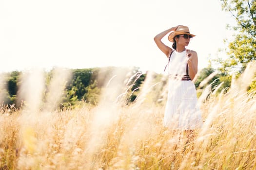
[[[186,67],[186,51],[174,51],[168,65],[168,98],[163,120],[164,126],[171,129],[189,130],[202,126],[194,83],[191,80],[182,81],[181,78],[177,78],[186,75]]]

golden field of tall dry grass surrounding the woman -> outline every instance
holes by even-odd
[[[253,68],[233,80],[227,93],[204,88],[198,99],[203,127],[192,134],[163,127],[164,104],[154,101],[166,100],[166,85],[150,73],[134,103],[124,100],[130,87],[116,86],[113,78],[98,105],[56,110],[68,74],[56,73],[41,105],[35,71],[26,77],[25,106],[1,108],[0,170],[256,169],[256,99],[246,93]]]

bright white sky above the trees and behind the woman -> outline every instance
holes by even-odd
[[[1,0],[0,71],[137,66],[162,72],[156,34],[176,25],[197,36],[198,67],[224,47],[234,22],[220,0]],[[167,36],[164,43],[171,46]]]

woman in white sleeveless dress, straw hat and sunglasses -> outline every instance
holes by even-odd
[[[173,49],[161,41],[168,33]],[[171,129],[193,130],[201,127],[197,93],[192,82],[197,74],[197,52],[185,48],[194,36],[188,27],[178,25],[154,38],[158,48],[168,57],[169,85],[164,126]]]

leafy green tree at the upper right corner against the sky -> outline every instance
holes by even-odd
[[[229,43],[229,58],[220,61],[222,71],[236,68],[242,72],[247,63],[256,59],[256,1],[255,0],[220,0],[222,9],[236,19],[236,25],[230,27],[237,32]]]

